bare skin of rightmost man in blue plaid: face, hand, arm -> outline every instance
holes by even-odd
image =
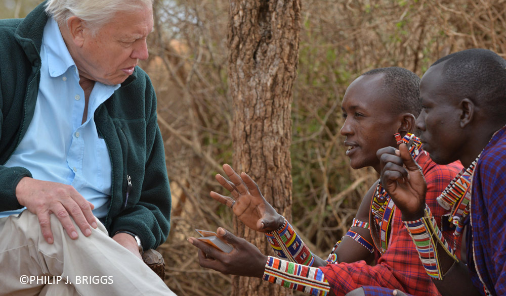
[[[469,98],[451,93],[442,73],[445,63],[429,68],[421,79],[424,110],[416,120],[416,127],[422,132],[424,149],[436,163],[460,160],[464,167],[469,167],[504,123],[494,122]],[[402,219],[413,221],[423,217],[427,184],[406,145],[380,149],[377,157],[381,161],[381,182],[402,212]],[[455,263],[440,246],[438,251],[445,274],[443,280],[433,280],[439,292],[443,296],[481,295],[471,282],[467,266]]]

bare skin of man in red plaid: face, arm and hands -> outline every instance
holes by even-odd
[[[350,157],[352,168],[373,167],[380,172],[380,163],[376,158],[377,149],[395,144],[394,133],[414,130],[415,118],[410,113],[392,114],[388,94],[379,94],[377,89],[382,85],[383,74],[367,75],[357,78],[348,87],[343,98],[342,110],[346,118],[341,129],[341,134],[346,136],[345,145],[350,149],[347,156]],[[230,180],[220,174],[216,175],[218,182],[231,192],[225,196],[217,192],[210,192],[210,196],[216,201],[232,207],[234,214],[249,228],[259,232],[271,232],[283,224],[282,216],[265,200],[258,185],[246,173],[238,174],[228,164],[223,165],[223,170]],[[356,219],[369,220],[370,202],[377,182],[371,186],[364,196]],[[234,203],[235,201],[235,203]],[[223,240],[234,246],[231,253],[223,253],[215,250],[204,242],[190,237],[188,240],[199,250],[199,263],[202,267],[212,268],[224,274],[235,274],[261,278],[264,273],[267,256],[260,253],[255,245],[232,233],[223,230],[217,233]],[[361,227],[352,227],[368,241],[371,240],[370,232]],[[357,246],[357,242],[349,237],[344,237],[336,250],[339,262],[356,262],[365,260],[370,262],[373,255],[365,248]],[[314,267],[325,266],[324,259],[315,256]],[[248,266],[248,268],[244,268]]]

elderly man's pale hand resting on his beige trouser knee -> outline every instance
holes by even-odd
[[[16,197],[20,205],[37,215],[40,230],[48,243],[54,241],[50,223],[52,213],[72,239],[78,234],[70,218],[86,236],[92,233],[90,225],[97,228],[92,213],[94,206],[70,185],[24,177],[16,186]]]

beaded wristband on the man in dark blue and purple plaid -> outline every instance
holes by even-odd
[[[441,244],[455,262],[458,262],[458,259],[444,239],[429,207],[425,206],[424,217],[415,221],[404,221],[404,225],[406,225],[406,229],[414,242],[418,257],[427,274],[434,279],[442,280],[444,274],[441,270],[437,244]]]

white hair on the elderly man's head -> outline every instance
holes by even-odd
[[[153,0],[48,0],[46,13],[60,25],[76,16],[93,29],[107,24],[119,11],[135,11],[153,5]]]

